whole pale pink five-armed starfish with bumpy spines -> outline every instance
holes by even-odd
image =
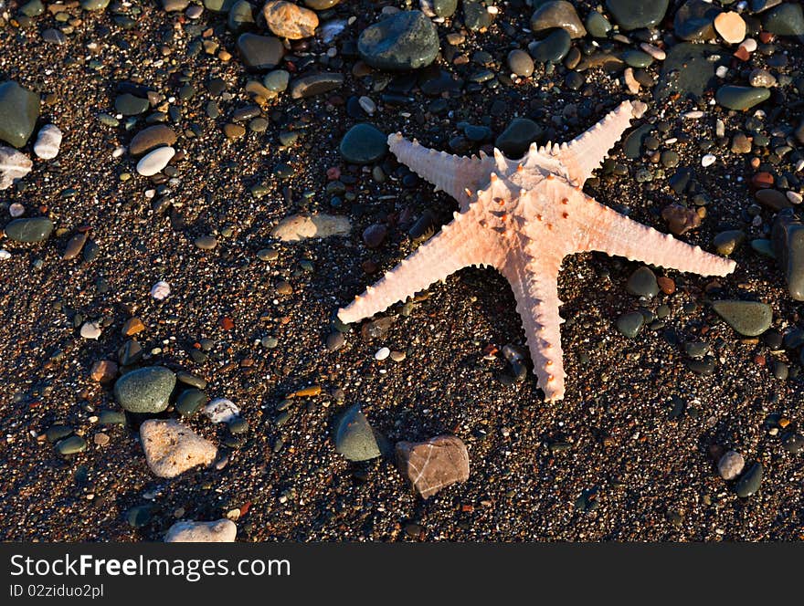
[[[461,267],[494,266],[513,288],[546,400],[564,398],[557,282],[566,255],[598,250],[703,276],[735,268],[734,261],[641,225],[581,190],[635,113],[625,101],[574,141],[534,144],[514,161],[498,150],[493,158],[461,158],[399,133],[388,137],[397,159],[456,198],[460,213],[338,317],[346,323],[369,318]]]

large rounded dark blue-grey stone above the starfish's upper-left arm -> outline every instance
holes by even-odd
[[[373,68],[425,68],[439,54],[439,35],[421,11],[400,11],[366,27],[357,40],[357,50]]]

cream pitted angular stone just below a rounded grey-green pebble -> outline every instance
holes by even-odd
[[[217,448],[174,419],[149,419],[140,425],[145,461],[157,477],[171,478],[196,465],[210,465]]]

